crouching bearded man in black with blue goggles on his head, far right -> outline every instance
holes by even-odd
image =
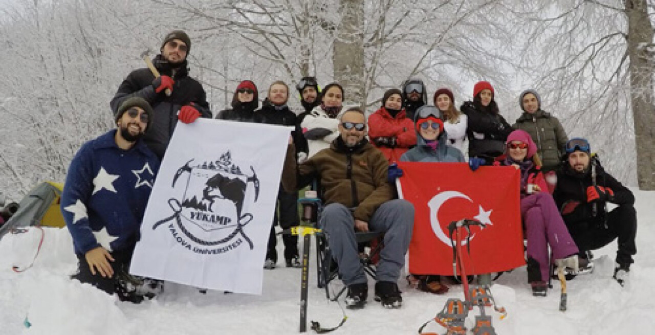
[[[553,198],[580,249],[581,272],[593,270],[591,250],[618,239],[614,279],[624,285],[637,253],[635,196],[603,169],[586,139],[569,140],[565,152]],[[616,205],[611,211],[608,202]]]

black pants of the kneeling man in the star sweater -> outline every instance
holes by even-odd
[[[109,265],[114,272],[114,275],[111,277],[103,277],[100,275],[100,272],[96,270],[96,274],[91,273],[91,269],[86,262],[84,255],[77,255],[79,260],[79,265],[77,266],[77,273],[71,276],[73,279],[77,279],[82,283],[89,283],[98,289],[107,292],[107,294],[117,293],[117,279],[116,274],[119,271],[127,272],[129,270],[130,261],[132,260],[132,253],[134,252],[134,247],[129,249],[124,249],[121,251],[111,252],[111,256],[114,258],[114,261],[109,261]],[[119,295],[120,296],[120,295]]]

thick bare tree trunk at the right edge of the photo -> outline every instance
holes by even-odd
[[[624,0],[628,22],[630,97],[635,122],[637,179],[641,190],[655,190],[655,107],[653,105],[653,27],[646,0]]]

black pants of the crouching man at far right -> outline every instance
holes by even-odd
[[[617,263],[632,264],[632,256],[637,253],[637,211],[633,205],[619,205],[607,213],[607,228],[603,220],[597,220],[569,226],[569,232],[580,253],[605,247],[616,238]]]

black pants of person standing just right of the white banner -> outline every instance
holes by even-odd
[[[280,208],[280,217],[278,220],[278,211],[276,209],[273,213],[273,226],[271,227],[269,245],[266,251],[266,258],[274,262],[278,261],[278,253],[275,249],[278,244],[277,236],[275,235],[275,226],[280,224],[282,229],[288,229],[298,225],[298,193],[288,193],[280,186],[280,190],[278,190],[278,206]],[[298,256],[298,236],[282,235],[282,242],[284,243],[285,259]]]

